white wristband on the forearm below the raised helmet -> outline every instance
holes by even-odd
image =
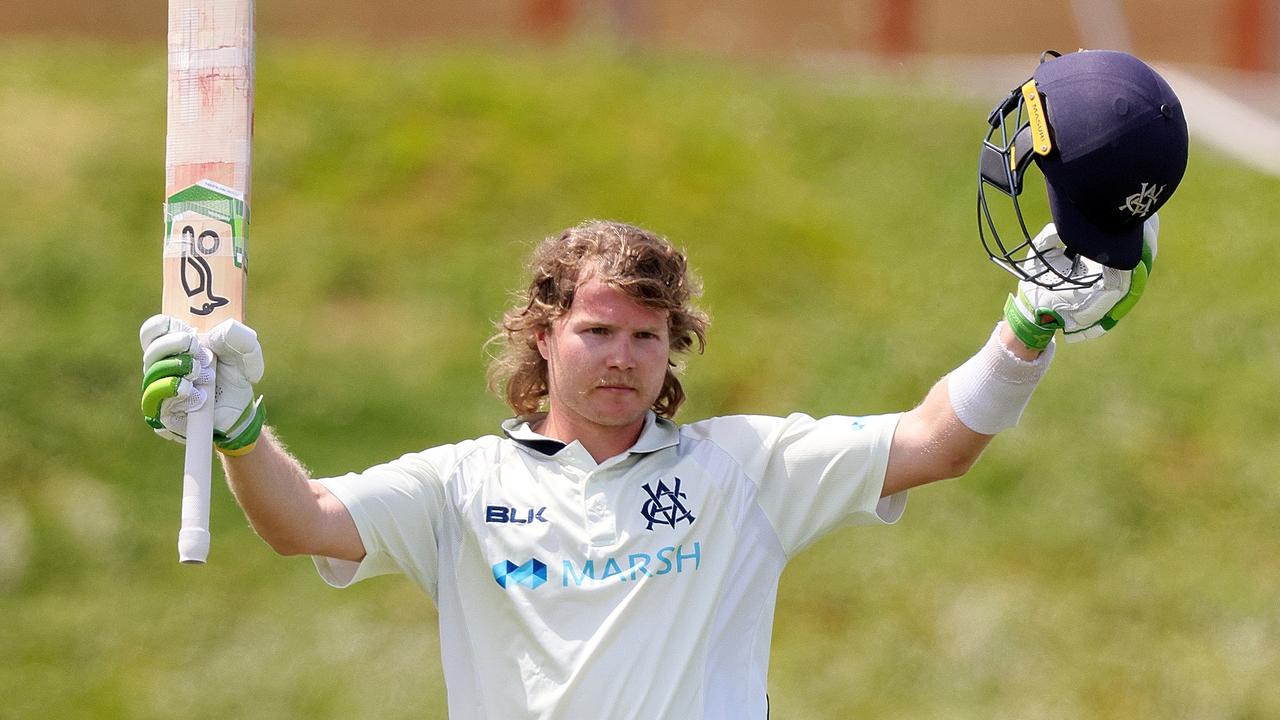
[[[1053,360],[1050,338],[1036,360],[1023,360],[1000,340],[1000,324],[977,355],[947,375],[947,393],[956,418],[975,433],[993,436],[1012,428],[1030,402],[1036,384]]]

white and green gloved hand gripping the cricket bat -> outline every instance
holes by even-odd
[[[209,347],[191,325],[168,315],[154,315],[138,332],[142,342],[142,416],[156,434],[186,442],[187,414],[214,389],[214,446],[224,455],[253,448],[266,420],[253,383],[262,378],[262,347],[248,325],[225,320],[209,332]],[[212,351],[212,352],[210,352]],[[214,356],[216,373],[210,373]]]

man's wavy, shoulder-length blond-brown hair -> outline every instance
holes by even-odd
[[[707,347],[709,319],[694,305],[701,283],[689,269],[684,252],[662,236],[609,220],[588,220],[544,240],[529,263],[529,287],[498,323],[490,338],[502,351],[489,364],[489,388],[516,415],[539,411],[548,395],[547,360],[538,351],[538,333],[550,332],[552,323],[568,313],[573,292],[588,279],[621,290],[655,310],[667,311],[672,352]],[[673,418],[685,402],[685,389],[676,377],[678,365],[668,361],[662,392],[653,410]]]

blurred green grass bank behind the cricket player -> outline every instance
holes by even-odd
[[[911,406],[1011,282],[974,228],[989,104],[901,79],[264,44],[273,424],[317,474],[493,432],[481,345],[525,252],[585,218],[668,234],[705,279],[682,418]],[[443,716],[406,580],[326,588],[221,480],[210,564],[175,561],[180,451],[137,409],[164,94],[163,46],[0,45],[0,717]],[[1061,347],[966,478],[790,565],[774,716],[1280,716],[1277,191],[1193,145],[1117,332]]]

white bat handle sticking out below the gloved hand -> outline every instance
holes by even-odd
[[[216,364],[210,368],[216,373]],[[209,559],[209,489],[214,464],[214,380],[205,404],[187,415],[187,456],[182,466],[182,529],[178,561],[202,565]]]

